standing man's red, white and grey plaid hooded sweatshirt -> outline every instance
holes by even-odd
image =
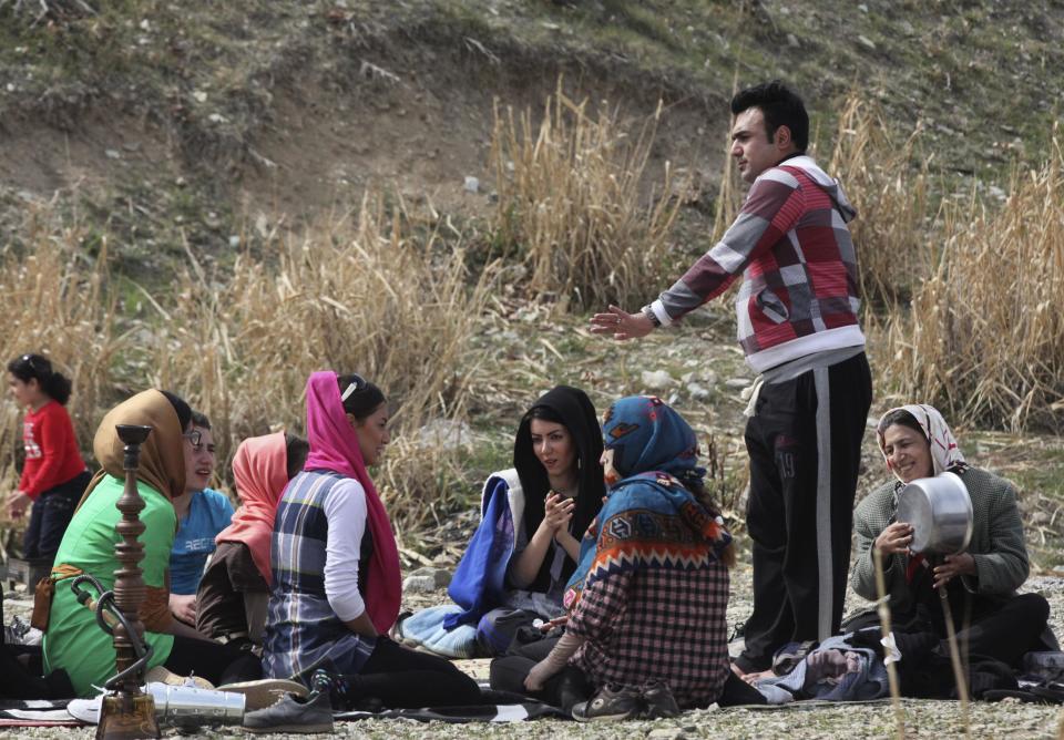
[[[861,347],[857,212],[811,157],[791,157],[754,181],[732,227],[651,308],[663,326],[724,292],[736,299],[746,360],[764,372],[816,352]]]

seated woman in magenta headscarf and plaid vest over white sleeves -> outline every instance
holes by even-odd
[[[359,376],[307,381],[310,454],[285,489],[274,524],[263,668],[330,681],[335,708],[378,699],[393,708],[473,703],[475,681],[449,661],[387,637],[399,614],[399,555],[366,471],[390,434],[383,393]]]

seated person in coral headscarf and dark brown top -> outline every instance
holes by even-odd
[[[196,593],[196,629],[221,643],[263,643],[269,599],[269,543],[277,501],[303,470],[306,440],[277,432],[244,440],[233,458],[241,507],[215,538],[217,549]]]

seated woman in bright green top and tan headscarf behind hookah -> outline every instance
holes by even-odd
[[[195,674],[213,684],[258,678],[259,666],[235,648],[208,640],[192,627],[173,618],[166,588],[167,566],[177,517],[171,503],[185,491],[185,460],[196,441],[192,410],[172,393],[144,391],[112,409],[100,423],[93,450],[102,470],[81,500],[59,552],[53,574],[95,576],[105,588],[114,585],[120,563],[114,546],[121,541],[115,524],[121,513],[115,503],[122,495],[123,443],[115,424],[152,428],[141,446],[136,471],[137,491],[144,501],[140,520],[144,534],[143,569],[146,594],[141,607],[144,639],[154,651],[149,668],[163,666],[181,676]],[[94,686],[115,672],[112,638],[96,624],[94,611],[78,603],[70,582],[58,580],[45,630],[43,648],[48,670],[62,668],[79,696],[90,696]]]

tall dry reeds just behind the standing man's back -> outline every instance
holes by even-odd
[[[920,127],[901,143],[889,130],[877,106],[851,94],[828,164],[858,212],[850,232],[861,292],[887,304],[907,295],[927,271],[921,257],[930,226],[927,162],[912,167]]]

